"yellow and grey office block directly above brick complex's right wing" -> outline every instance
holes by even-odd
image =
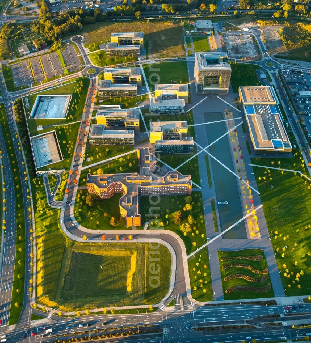
[[[150,143],[162,154],[193,153],[193,138],[187,137],[187,121],[150,121]]]

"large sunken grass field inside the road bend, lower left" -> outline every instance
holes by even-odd
[[[161,285],[152,288],[146,253],[153,249],[151,245],[75,243],[59,230],[59,213],[47,205],[42,178],[34,179],[33,194],[36,196],[38,303],[66,311],[154,304],[165,296],[171,268],[171,256],[166,247],[158,248]],[[136,258],[132,257],[134,254]]]

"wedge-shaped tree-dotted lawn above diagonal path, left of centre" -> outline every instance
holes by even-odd
[[[124,154],[132,150],[134,150],[133,145],[90,145],[88,141],[85,148],[85,154],[83,156],[83,166]],[[87,158],[90,158],[89,162],[87,162]]]

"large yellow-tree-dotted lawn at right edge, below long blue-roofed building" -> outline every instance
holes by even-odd
[[[293,158],[281,158],[280,164],[278,159],[271,158],[252,158],[251,161],[258,165],[304,171],[301,167],[301,155],[296,154]],[[308,242],[311,239],[311,208],[307,204],[311,203],[308,189],[311,182],[288,171],[283,173],[282,170],[269,169],[269,173],[265,168],[253,169],[286,295],[309,294],[311,249]],[[297,273],[300,276],[296,280]]]

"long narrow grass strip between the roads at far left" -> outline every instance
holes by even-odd
[[[1,129],[7,147],[7,153],[10,159],[11,170],[14,182],[15,191],[15,210],[16,210],[16,243],[15,243],[15,261],[13,286],[10,305],[9,325],[14,325],[18,322],[24,300],[24,283],[25,283],[25,217],[24,217],[24,202],[21,196],[22,182],[21,175],[17,163],[17,158],[12,146],[12,137],[8,125],[7,115],[3,104],[0,104]],[[23,177],[23,176],[22,176]],[[3,204],[5,206],[5,204]],[[3,224],[5,226],[5,224]],[[30,285],[29,285],[30,286]],[[15,306],[17,305],[17,306]]]

